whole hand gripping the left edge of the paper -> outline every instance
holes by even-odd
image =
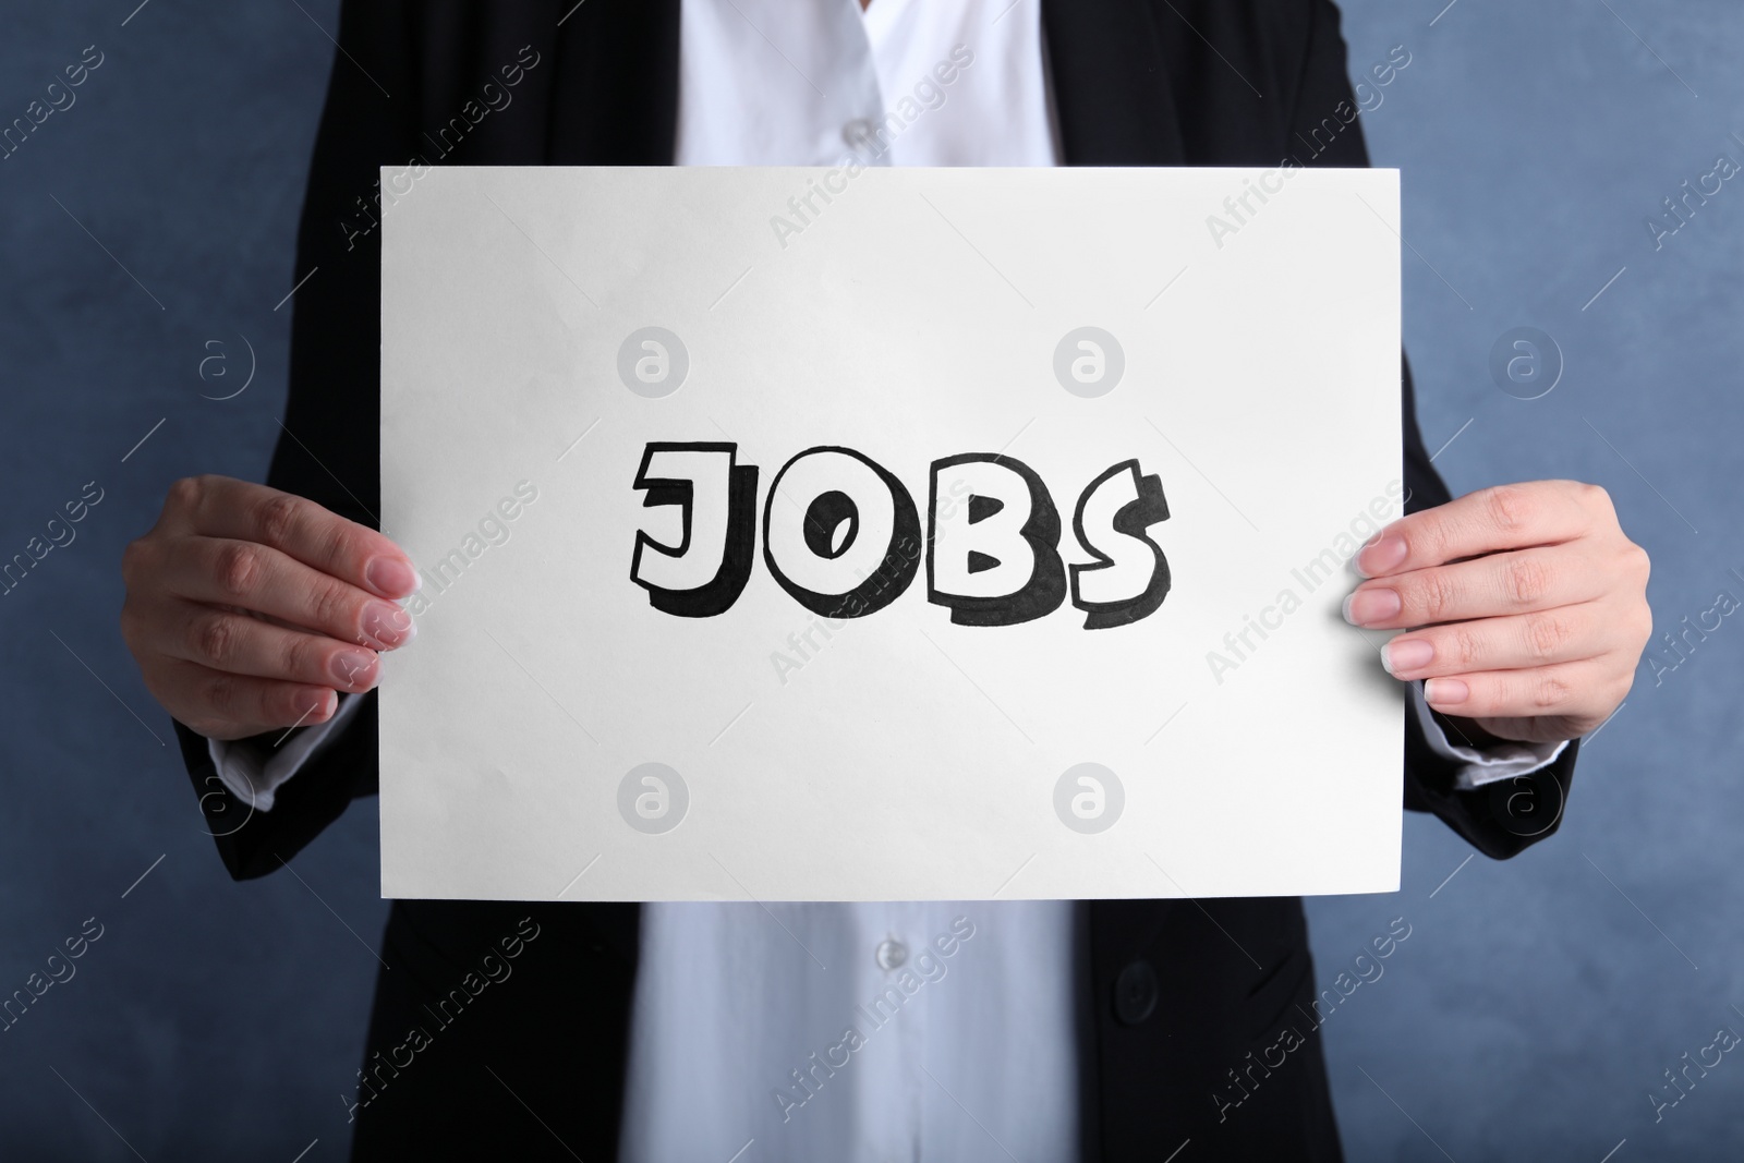
[[[328,720],[412,640],[399,546],[312,500],[228,476],[169,486],[122,554],[120,631],[145,685],[211,739]]]

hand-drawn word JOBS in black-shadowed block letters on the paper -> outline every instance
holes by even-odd
[[[944,488],[942,488],[944,485]],[[727,612],[752,575],[757,466],[734,443],[649,443],[642,504],[663,537],[637,532],[630,579],[675,617]],[[909,490],[853,448],[806,448],[774,474],[762,506],[762,558],[795,602],[828,619],[895,602],[926,558],[926,600],[959,626],[1015,626],[1060,609],[1085,629],[1128,626],[1168,596],[1168,560],[1149,528],[1168,520],[1162,481],[1121,460],[1078,495],[1073,534],[1088,563],[1060,560],[1060,513],[1041,478],[1001,453],[933,460],[926,535]],[[677,535],[673,535],[673,532]]]

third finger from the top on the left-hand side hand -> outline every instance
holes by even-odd
[[[380,656],[248,614],[173,598],[152,619],[148,649],[209,670],[363,692],[380,677]]]

